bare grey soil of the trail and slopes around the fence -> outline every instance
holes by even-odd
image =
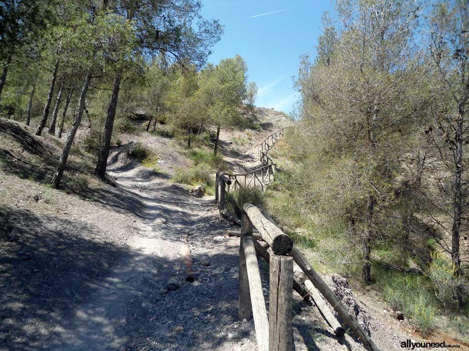
[[[238,150],[224,134],[223,152],[249,169],[255,145],[282,126]],[[186,164],[168,140],[157,142],[169,174]],[[93,180],[87,156],[73,156],[66,177],[88,175],[89,183],[56,191],[38,180],[51,175],[59,146],[0,121],[0,350],[256,350],[253,321],[237,320],[239,239],[226,235],[233,225],[217,219],[213,197],[192,197],[123,148],[109,157],[117,187]],[[31,177],[37,170],[39,179]],[[189,251],[192,283],[183,262]],[[259,264],[268,302],[268,268]],[[326,281],[334,289],[334,278]],[[416,340],[376,296],[345,295],[381,350]],[[294,342],[295,350],[363,350],[348,335],[336,338],[296,293]]]

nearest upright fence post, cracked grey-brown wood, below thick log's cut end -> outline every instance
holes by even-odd
[[[293,350],[293,259],[270,255],[269,351]]]

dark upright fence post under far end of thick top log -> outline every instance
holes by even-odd
[[[248,271],[244,254],[243,238],[253,236],[253,224],[243,211],[241,215],[241,237],[239,238],[239,288],[238,288],[238,317],[239,320],[251,319],[251,294],[249,292]]]

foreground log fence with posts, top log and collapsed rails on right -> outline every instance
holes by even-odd
[[[240,237],[238,317],[240,320],[250,319],[252,311],[257,349],[259,351],[293,350],[292,290],[295,290],[303,299],[311,299],[315,303],[337,336],[343,336],[345,329],[337,321],[323,298],[329,302],[366,350],[379,351],[362,326],[295,247],[290,236],[280,230],[270,215],[249,203],[244,204],[241,219],[226,211],[226,187],[231,185],[232,181],[223,173],[217,173],[217,179],[216,199],[219,218],[220,220],[228,218],[241,227],[241,231],[229,231],[231,236]],[[267,251],[269,247],[273,254]],[[270,265],[269,317],[267,317],[256,253]],[[296,262],[302,271],[301,275],[293,274],[293,262]]]

